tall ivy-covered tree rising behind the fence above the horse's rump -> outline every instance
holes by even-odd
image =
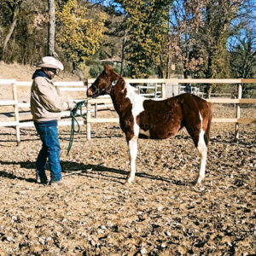
[[[237,13],[244,0],[211,0],[207,3],[206,21],[201,28],[201,43],[206,65],[203,69],[208,79],[230,77],[230,55],[227,50],[227,41],[231,34],[231,22],[236,19]],[[211,84],[207,90],[210,97],[216,84]]]

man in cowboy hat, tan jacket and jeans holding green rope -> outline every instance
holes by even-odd
[[[36,67],[41,68],[32,75],[30,104],[32,119],[43,143],[36,162],[36,179],[38,183],[48,183],[45,165],[49,159],[49,184],[52,184],[61,181],[61,148],[57,121],[61,119],[61,111],[72,110],[76,103],[61,99],[52,81],[55,74],[64,69],[61,61],[46,56],[36,64]]]

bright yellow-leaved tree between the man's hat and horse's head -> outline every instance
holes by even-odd
[[[67,60],[73,62],[73,69],[81,71],[85,61],[96,53],[104,39],[106,15],[87,12],[77,0],[68,0],[56,11],[58,32],[57,42],[61,45]],[[82,74],[79,72],[80,77]]]

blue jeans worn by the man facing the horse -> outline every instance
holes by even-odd
[[[49,159],[50,181],[57,182],[61,180],[61,164],[60,164],[60,142],[57,121],[50,122],[34,122],[38,135],[43,143],[38,154],[36,162],[37,175],[41,182],[47,180],[45,174],[45,165],[47,158]]]

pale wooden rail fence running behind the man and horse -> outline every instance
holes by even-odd
[[[92,84],[95,79],[88,79],[87,83],[88,86]],[[235,137],[238,139],[239,133],[238,128],[239,124],[250,124],[256,123],[256,119],[241,119],[241,104],[255,104],[256,99],[241,99],[241,84],[249,84],[255,83],[256,79],[125,79],[126,83],[129,84],[154,84],[152,89],[154,90],[154,96],[160,95],[160,98],[154,98],[154,100],[161,100],[166,98],[166,84],[237,84],[238,87],[238,96],[236,99],[230,98],[212,98],[207,99],[208,102],[212,103],[234,103],[236,104],[236,117],[230,119],[224,118],[213,118],[212,122],[219,122],[219,123],[236,123],[235,129]],[[31,127],[33,126],[32,121],[30,122],[20,122],[20,113],[19,108],[29,108],[30,104],[28,102],[19,102],[18,99],[18,87],[27,86],[30,87],[32,82],[19,82],[15,79],[0,79],[0,85],[9,84],[12,86],[13,92],[13,99],[9,100],[2,100],[0,101],[1,106],[13,106],[14,108],[14,117],[15,121],[8,121],[2,122],[0,121],[1,126],[15,126],[16,129],[16,138],[17,144],[20,143],[20,127]],[[87,90],[84,82],[55,82],[55,86],[60,86],[61,91],[83,91]],[[140,85],[140,88],[143,89],[143,85]],[[160,90],[157,90],[159,89]],[[152,94],[153,95],[153,94]],[[72,100],[72,99],[70,99]],[[79,101],[79,100],[76,100]],[[101,105],[99,105],[101,104]],[[119,122],[118,118],[97,118],[96,114],[95,117],[91,117],[92,112],[92,105],[95,106],[95,113],[96,109],[102,108],[102,106],[110,107],[112,105],[112,101],[110,97],[99,97],[97,99],[87,99],[86,110],[83,110],[83,113],[86,113],[86,120],[79,120],[79,125],[85,124],[87,127],[87,138],[90,139],[90,124],[91,123],[102,123],[102,122]],[[62,117],[68,116],[69,112],[61,113]],[[64,121],[61,120],[58,125],[71,125],[71,121]]]

